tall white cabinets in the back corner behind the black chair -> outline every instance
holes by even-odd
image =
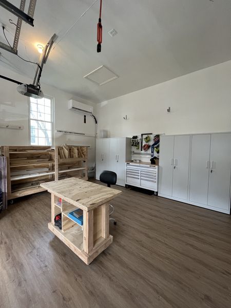
[[[130,138],[103,138],[96,140],[95,178],[104,170],[117,174],[117,185],[125,186],[125,162],[131,160]]]

